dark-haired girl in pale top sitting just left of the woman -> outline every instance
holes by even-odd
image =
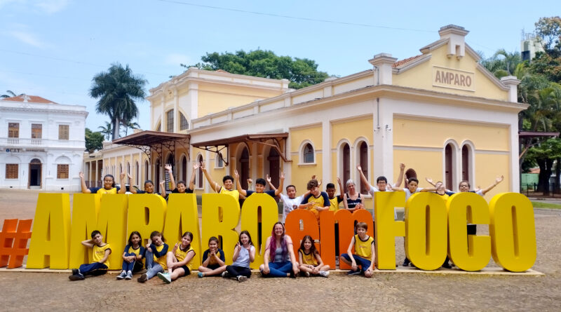
[[[250,263],[255,260],[255,247],[251,241],[250,232],[241,231],[240,239],[234,247],[234,263],[226,266],[226,271],[222,272],[224,278],[236,278],[238,282],[245,282],[251,276]]]

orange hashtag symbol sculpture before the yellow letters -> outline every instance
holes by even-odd
[[[31,238],[32,219],[5,219],[0,232],[0,268],[8,265],[8,269],[22,266],[23,257],[29,252],[27,240]],[[8,261],[9,260],[9,261]]]

